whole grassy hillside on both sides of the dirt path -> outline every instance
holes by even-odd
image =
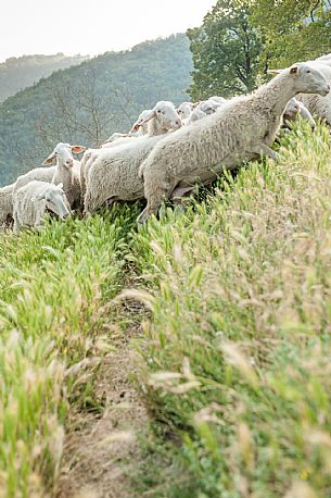
[[[54,486],[63,424],[102,410],[98,362],[138,324],[151,427],[130,496],[330,496],[329,132],[282,146],[138,232],[122,206],[1,237],[4,496]]]

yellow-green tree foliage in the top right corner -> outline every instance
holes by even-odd
[[[252,23],[270,64],[281,67],[331,51],[331,0],[255,0]]]

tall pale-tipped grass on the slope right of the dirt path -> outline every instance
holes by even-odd
[[[176,441],[173,475],[144,469],[153,496],[331,496],[330,162],[329,132],[301,126],[279,164],[136,236],[153,296],[142,382]]]

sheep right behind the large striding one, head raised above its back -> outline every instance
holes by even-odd
[[[181,126],[181,120],[171,102],[161,101],[145,116],[144,122],[149,123],[148,136],[127,140],[115,148],[94,150],[81,161],[80,182],[85,192],[86,213],[96,210],[110,198],[133,200],[143,197],[143,184],[138,178],[138,169],[164,134]],[[94,167],[96,163],[98,165]],[[103,177],[104,188],[102,182],[100,184]],[[118,180],[119,184],[117,177],[122,178]],[[94,184],[98,184],[98,187]]]

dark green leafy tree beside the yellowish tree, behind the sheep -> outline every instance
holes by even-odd
[[[251,91],[259,70],[262,37],[252,27],[250,0],[218,0],[201,27],[189,29],[193,100]]]

